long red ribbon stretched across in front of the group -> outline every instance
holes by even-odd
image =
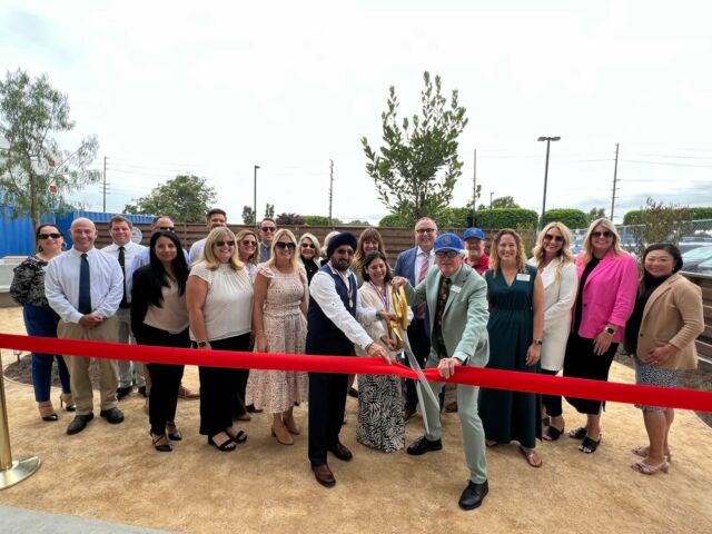
[[[313,373],[347,373],[360,375],[395,375],[417,379],[415,373],[400,364],[387,365],[378,358],[352,356],[309,356],[300,354],[238,353],[192,348],[122,345],[52,337],[0,334],[0,347],[44,354],[67,354],[92,358],[129,359],[155,364],[202,365],[245,369],[304,370]],[[457,367],[449,379],[437,369],[424,369],[431,382],[448,382],[468,386],[543,393],[566,397],[613,400],[647,406],[712,412],[712,393],[671,387],[640,386],[614,382],[564,378],[516,370],[482,367]]]

